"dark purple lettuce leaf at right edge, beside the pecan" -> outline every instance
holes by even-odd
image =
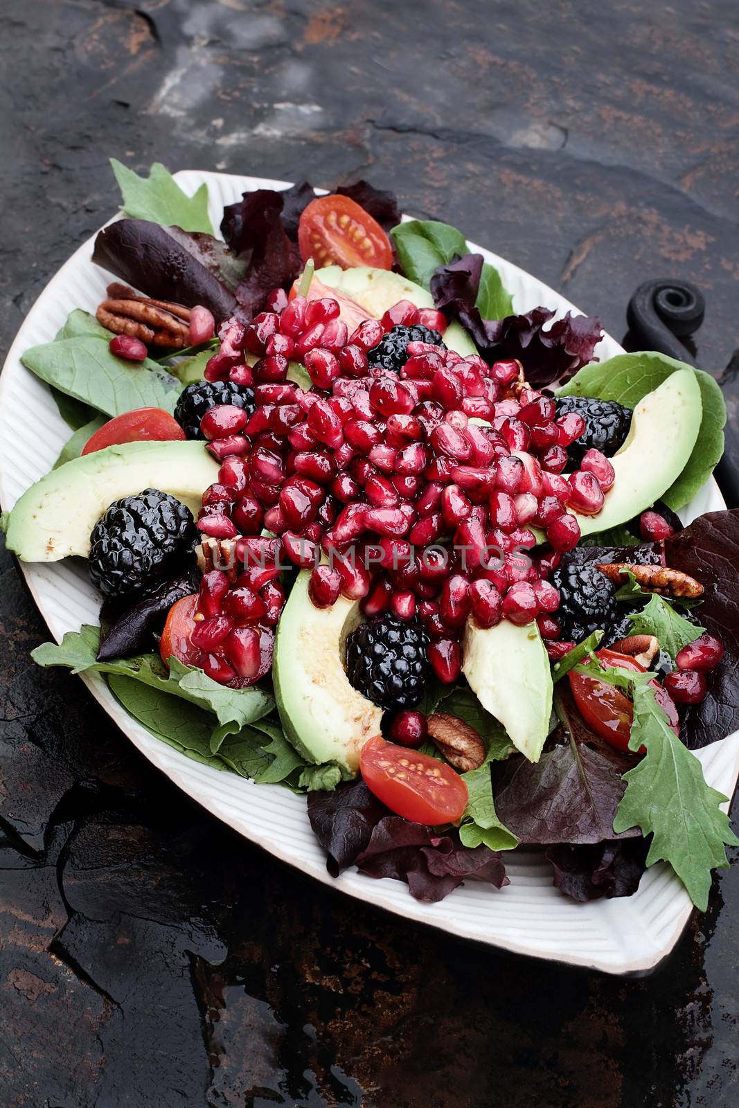
[[[739,728],[739,509],[700,515],[665,541],[665,558],[701,583],[696,616],[723,644],[723,659],[708,675],[706,699],[684,717],[686,746],[697,750]]]

